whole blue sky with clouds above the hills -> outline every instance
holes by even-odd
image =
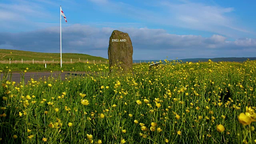
[[[1,0],[0,49],[108,58],[113,30],[133,60],[256,57],[255,0]]]

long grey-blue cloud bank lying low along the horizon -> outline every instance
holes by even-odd
[[[113,30],[129,34],[134,49],[133,59],[254,57],[256,39],[228,41],[225,36],[169,34],[163,29],[96,28],[75,24],[62,30],[62,52],[76,52],[108,58],[108,42]],[[19,33],[1,33],[0,48],[59,52],[59,27]]]

